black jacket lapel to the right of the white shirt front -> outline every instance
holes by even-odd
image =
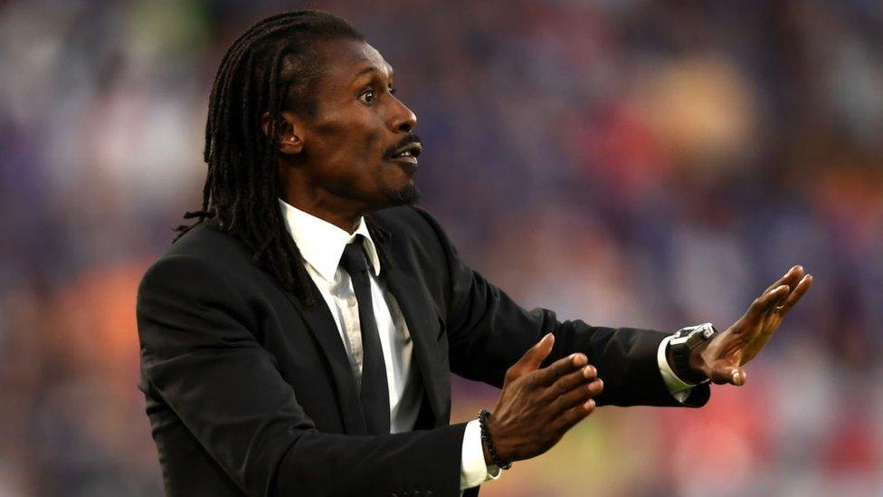
[[[438,334],[441,329],[437,313],[430,303],[432,299],[419,284],[413,269],[404,263],[396,262],[394,268],[387,268],[385,281],[408,324],[414,343],[414,359],[423,377],[423,387],[432,406],[435,424],[447,425],[451,379],[439,360]]]

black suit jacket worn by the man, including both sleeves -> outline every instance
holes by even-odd
[[[168,494],[456,496],[465,425],[449,425],[450,373],[501,387],[549,331],[547,362],[578,350],[598,368],[599,406],[679,405],[656,362],[664,334],[525,311],[463,264],[423,210],[395,207],[375,219],[392,235],[381,278],[408,323],[426,394],[414,431],[366,435],[325,303],[308,307],[283,291],[209,220],[138,289],[139,388]],[[687,404],[708,395],[696,387]]]

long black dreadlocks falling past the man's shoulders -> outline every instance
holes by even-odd
[[[252,263],[271,274],[282,288],[315,305],[297,244],[288,233],[277,200],[280,113],[315,116],[312,95],[322,74],[316,46],[329,40],[364,41],[346,20],[316,10],[278,14],[254,24],[227,50],[214,77],[205,123],[204,161],[208,174],[202,208],[186,212],[194,225],[176,228],[176,242],[205,218],[218,219],[252,253]],[[269,132],[261,120],[270,114]],[[385,264],[389,234],[366,215],[368,232]]]

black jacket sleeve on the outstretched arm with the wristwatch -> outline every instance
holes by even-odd
[[[707,402],[707,385],[693,387],[684,403],[669,393],[656,358],[665,333],[590,326],[582,320],[562,322],[546,309],[526,311],[460,260],[431,215],[422,209],[417,212],[432,225],[444,254],[450,282],[446,315],[452,372],[502,387],[506,370],[552,332],[555,346],[544,366],[584,352],[604,381],[602,395],[595,398],[599,406],[695,407]]]

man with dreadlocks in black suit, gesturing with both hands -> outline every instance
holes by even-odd
[[[709,379],[744,384],[812,283],[795,266],[720,333],[525,311],[409,206],[415,125],[390,65],[331,14],[280,14],[230,47],[199,221],[138,293],[166,492],[475,494],[595,406],[701,406]],[[449,425],[450,372],[502,387],[496,406]]]

